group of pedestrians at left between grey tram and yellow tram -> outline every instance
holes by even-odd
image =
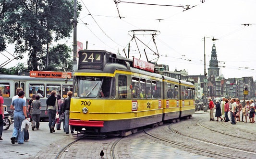
[[[3,131],[3,119],[4,119],[4,110],[3,110],[3,98],[1,96],[2,91],[0,89],[0,140],[2,140],[2,131]],[[16,89],[16,95],[12,97],[11,109],[14,111],[14,127],[12,132],[11,142],[15,144],[23,144],[24,141],[29,140],[28,127],[30,122],[32,124],[32,130],[39,130],[40,126],[40,114],[42,103],[40,101],[41,95],[32,95],[31,99],[28,102],[28,107],[26,108],[26,97],[23,88]],[[61,95],[57,95],[56,91],[51,91],[50,96],[46,100],[46,111],[45,114],[49,115],[49,130],[50,133],[55,132],[55,124],[57,124],[57,130],[61,130],[61,122],[56,123],[56,115],[62,115],[63,120],[63,131],[66,134],[73,133],[73,128],[69,127],[69,110],[70,110],[70,101],[73,93],[69,91],[67,93],[68,97],[64,98],[64,101],[61,99]],[[27,116],[28,115],[28,116]],[[30,120],[28,120],[28,117]]]

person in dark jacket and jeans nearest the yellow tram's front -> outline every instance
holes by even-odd
[[[73,93],[68,91],[68,98],[64,100],[62,113],[65,112],[65,133],[69,133],[69,110],[70,110],[70,101]],[[73,128],[71,127],[71,133],[73,133]]]

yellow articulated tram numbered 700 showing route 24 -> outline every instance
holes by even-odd
[[[194,85],[155,74],[153,64],[83,50],[73,78],[69,124],[97,134],[131,130],[191,116],[193,97]]]

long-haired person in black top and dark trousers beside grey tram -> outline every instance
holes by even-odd
[[[56,98],[56,91],[51,91],[49,98],[46,100],[45,114],[49,114],[49,129],[50,133],[55,132],[55,115],[58,114],[58,102]],[[48,111],[48,112],[47,112]]]

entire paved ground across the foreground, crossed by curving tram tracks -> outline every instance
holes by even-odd
[[[198,148],[217,155],[180,147],[157,138],[152,138],[140,131],[117,142],[114,148],[114,156],[116,159],[222,159],[225,158],[225,155],[231,158],[255,158],[256,150],[252,146],[256,144],[255,123],[237,122],[236,125],[231,125],[229,122],[209,121],[208,118],[209,115],[205,113],[195,114],[192,119],[146,129],[146,132],[158,138],[164,138],[167,141],[191,148]],[[177,133],[188,137],[172,132],[169,126]],[[78,137],[73,137],[71,134],[65,134],[63,130],[49,133],[48,123],[41,122],[39,130],[32,131],[31,128],[29,129],[29,141],[24,142],[23,145],[18,145],[17,143],[12,145],[10,140],[12,130],[13,124],[9,130],[3,131],[3,140],[0,141],[3,153],[0,158],[55,159],[62,148],[78,139]],[[219,131],[233,136],[221,134]],[[67,148],[62,154],[61,159],[97,159],[100,158],[99,153],[101,150],[105,153],[104,158],[111,159],[113,152],[111,148],[119,139],[119,137],[80,139]],[[224,157],[221,157],[221,155],[224,155]]]

